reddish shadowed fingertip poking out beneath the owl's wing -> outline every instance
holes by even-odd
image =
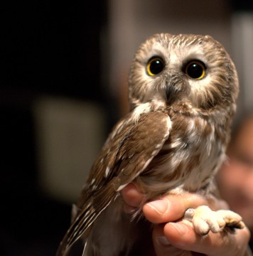
[[[138,207],[143,200],[143,194],[136,188],[134,183],[129,183],[122,189],[122,198],[126,205],[131,207]]]

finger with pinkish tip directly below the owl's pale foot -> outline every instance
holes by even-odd
[[[181,250],[204,253],[208,256],[242,256],[249,242],[249,230],[237,230],[235,235],[225,230],[208,235],[197,235],[190,225],[183,222],[167,223],[163,232],[171,245]]]

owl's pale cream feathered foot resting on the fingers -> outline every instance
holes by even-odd
[[[206,235],[209,231],[218,233],[223,228],[244,228],[242,217],[232,210],[211,210],[208,206],[199,206],[185,211],[185,220],[193,223],[196,233]]]

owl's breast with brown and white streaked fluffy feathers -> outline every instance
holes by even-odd
[[[173,114],[171,122],[171,134],[140,176],[141,183],[154,193],[178,187],[198,191],[212,181],[220,168],[225,145],[208,119]]]

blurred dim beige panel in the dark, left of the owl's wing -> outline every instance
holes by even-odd
[[[107,130],[105,112],[92,101],[41,97],[33,114],[39,186],[51,198],[71,205],[102,148]]]

